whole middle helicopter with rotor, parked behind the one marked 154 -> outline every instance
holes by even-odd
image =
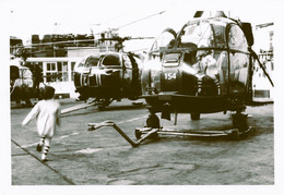
[[[153,37],[102,38],[99,41],[115,40],[115,51],[90,54],[74,68],[74,85],[80,94],[78,100],[95,98],[99,109],[109,106],[114,100],[128,98],[137,100],[141,93],[141,56],[125,52],[123,41]]]

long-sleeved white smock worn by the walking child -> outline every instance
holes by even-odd
[[[60,103],[54,99],[38,101],[32,111],[26,115],[22,125],[27,124],[32,119],[37,118],[37,132],[40,137],[52,137],[56,133],[60,119]]]

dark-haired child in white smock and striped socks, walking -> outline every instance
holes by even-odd
[[[26,125],[32,119],[36,118],[37,132],[40,141],[36,150],[42,151],[42,160],[47,161],[47,153],[50,148],[50,142],[56,133],[57,125],[60,125],[60,105],[54,99],[55,88],[46,86],[42,89],[43,100],[38,101],[32,111],[26,115],[22,125]]]

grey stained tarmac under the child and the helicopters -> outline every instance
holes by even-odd
[[[60,99],[62,109],[81,102]],[[42,162],[36,151],[39,137],[36,122],[22,127],[31,108],[11,103],[11,185],[273,185],[273,103],[248,107],[248,123],[255,132],[239,141],[227,137],[197,138],[159,136],[132,147],[113,127],[87,131],[88,123],[115,122],[133,141],[134,129],[145,125],[143,105],[130,100],[113,102],[104,111],[90,107],[66,113]],[[230,113],[201,114],[191,121],[179,114],[177,125],[161,120],[165,129],[177,131],[225,130],[232,127]]]

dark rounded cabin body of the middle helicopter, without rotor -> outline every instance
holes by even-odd
[[[138,99],[141,95],[138,61],[128,53],[108,52],[79,63],[74,73],[76,90],[99,99]]]

